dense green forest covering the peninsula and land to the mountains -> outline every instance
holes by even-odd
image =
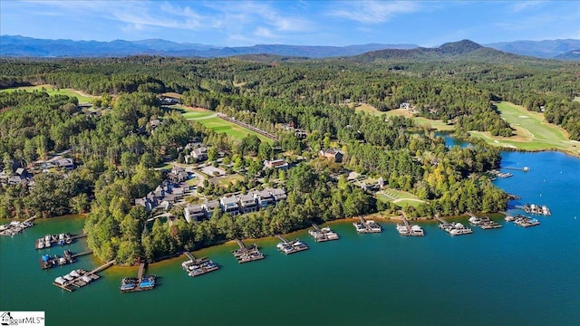
[[[81,110],[76,98],[43,91],[0,92],[0,154],[6,175],[66,152],[77,167],[34,176],[34,184],[0,187],[0,217],[87,213],[85,231],[95,254],[118,264],[153,261],[181,250],[235,237],[286,233],[311,221],[328,221],[400,207],[377,201],[360,187],[336,177],[341,168],[382,177],[387,187],[408,191],[429,204],[406,206],[408,216],[495,212],[506,194],[479,173],[498,168],[498,149],[482,142],[469,148],[445,147],[443,139],[403,117],[374,116],[353,110],[368,103],[378,110],[402,103],[431,119],[454,120],[461,130],[509,135],[492,100],[503,99],[544,110],[546,118],[580,139],[580,108],[575,63],[536,65],[473,62],[349,62],[344,60],[271,62],[241,58],[213,60],[136,56],[115,59],[25,61],[2,59],[0,86],[50,83],[101,98],[100,114]],[[279,59],[279,58],[277,58]],[[163,107],[159,94],[174,91],[181,101],[217,110],[275,133],[273,145],[256,136],[233,139],[185,120]],[[150,120],[162,120],[154,130]],[[303,129],[299,137],[286,126]],[[179,151],[202,139],[244,177],[227,191],[266,187],[276,179],[288,194],[284,202],[256,213],[230,216],[216,211],[208,220],[148,223],[135,206],[165,177],[155,169],[183,161]],[[317,157],[331,142],[345,152],[342,164]],[[215,150],[217,149],[217,150]],[[263,159],[284,154],[304,161],[287,174],[254,176]],[[208,156],[210,154],[208,153]]]

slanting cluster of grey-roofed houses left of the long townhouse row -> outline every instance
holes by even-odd
[[[185,194],[189,192],[189,185],[184,182],[188,178],[189,173],[185,169],[172,168],[160,186],[145,197],[136,198],[135,205],[145,207],[148,212],[156,207],[169,209],[172,205],[182,201]]]

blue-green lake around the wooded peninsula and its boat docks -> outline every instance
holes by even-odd
[[[261,239],[266,259],[237,264],[237,245],[196,252],[221,266],[189,277],[184,256],[150,265],[159,276],[153,291],[121,293],[121,278],[136,267],[111,267],[74,292],[53,286],[73,268],[102,264],[92,255],[73,265],[42,271],[36,238],[78,233],[82,217],[38,221],[14,237],[0,238],[0,310],[44,311],[49,325],[578,325],[580,323],[580,159],[558,152],[502,153],[513,177],[495,183],[522,197],[510,202],[547,205],[541,225],[507,224],[451,237],[436,223],[421,224],[424,237],[402,237],[383,223],[382,234],[358,235],[352,221],[332,225],[341,239],[284,255],[274,238]],[[520,211],[510,209],[509,213]],[[249,245],[249,243],[247,243]],[[85,249],[84,239],[71,246]]]

